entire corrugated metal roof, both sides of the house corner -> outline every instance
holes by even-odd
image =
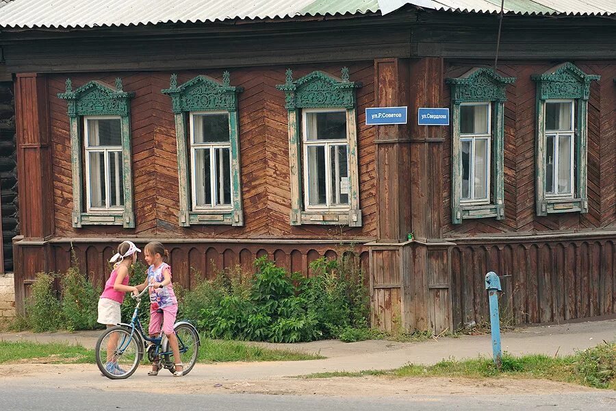
[[[616,14],[616,0],[505,0],[509,14]],[[393,12],[493,13],[500,0],[0,0],[0,27],[104,27]]]

